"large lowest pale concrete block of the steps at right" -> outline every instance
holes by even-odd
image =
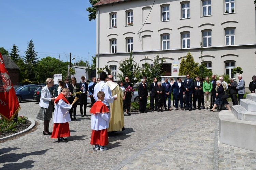
[[[231,111],[219,112],[221,143],[256,151],[256,122],[239,120]]]

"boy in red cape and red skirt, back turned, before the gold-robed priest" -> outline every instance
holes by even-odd
[[[102,101],[104,100],[105,94],[102,91],[97,93],[98,100],[90,109],[91,113],[91,145],[95,145],[95,150],[104,151],[107,150],[105,145],[108,145],[108,127],[110,111]]]

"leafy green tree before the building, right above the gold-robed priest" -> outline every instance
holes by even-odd
[[[119,62],[119,70],[117,73],[121,81],[125,80],[125,77],[128,76],[132,84],[139,81],[138,74],[140,74],[141,68],[137,62],[133,61],[134,57],[132,56],[132,51],[130,52],[130,57],[128,59],[122,60]]]

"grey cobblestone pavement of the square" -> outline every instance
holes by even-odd
[[[43,135],[43,121],[35,119],[38,102],[20,106],[19,115],[34,119],[37,129],[0,143],[1,169],[256,169],[256,152],[218,144],[218,112],[125,115],[125,131],[109,137],[108,150],[100,152],[90,145],[90,107],[88,117],[81,117],[77,107],[78,121],[69,122],[69,142],[57,143]]]

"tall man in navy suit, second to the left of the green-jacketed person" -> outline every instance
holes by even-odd
[[[186,111],[192,111],[192,94],[194,90],[194,81],[190,78],[190,75],[187,74],[187,78],[184,80],[184,92],[186,98]]]

